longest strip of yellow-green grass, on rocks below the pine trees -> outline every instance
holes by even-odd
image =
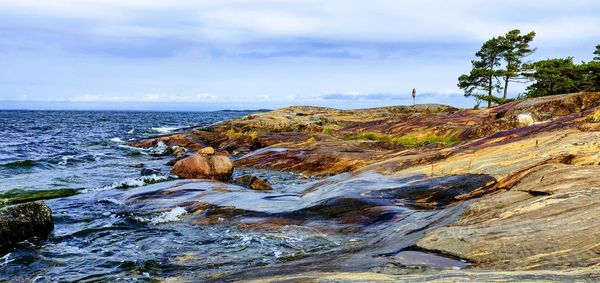
[[[419,147],[426,144],[443,144],[446,146],[457,144],[460,140],[456,136],[442,137],[432,134],[427,135],[404,135],[400,137],[393,137],[389,135],[383,135],[378,133],[361,133],[356,136],[350,136],[346,138],[348,140],[369,140],[369,141],[383,141],[391,142],[406,147]]]

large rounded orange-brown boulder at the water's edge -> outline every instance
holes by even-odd
[[[171,173],[187,179],[231,179],[233,163],[227,156],[196,154],[175,163]]]

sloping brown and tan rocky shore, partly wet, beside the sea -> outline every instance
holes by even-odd
[[[301,225],[355,239],[334,254],[299,255],[223,280],[318,280],[325,276],[319,272],[337,276],[333,281],[410,280],[418,275],[398,270],[415,267],[459,277],[492,270],[514,279],[562,270],[598,279],[599,116],[600,93],[482,110],[288,107],[133,145],[212,146],[231,153],[235,167],[317,176],[286,193],[197,180],[157,190],[202,183],[202,193],[185,199],[190,213],[248,229]],[[436,265],[436,257],[450,261]]]

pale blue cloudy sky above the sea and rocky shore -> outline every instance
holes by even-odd
[[[600,1],[0,0],[0,109],[471,107],[481,44],[590,60]],[[512,96],[524,85],[511,86]]]

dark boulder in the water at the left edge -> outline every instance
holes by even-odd
[[[52,211],[43,201],[0,208],[0,253],[35,236],[45,237],[52,229]]]

